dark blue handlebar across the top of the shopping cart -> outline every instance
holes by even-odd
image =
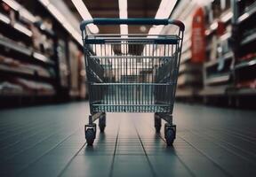
[[[81,31],[84,31],[84,28],[88,24],[94,25],[176,25],[180,27],[181,31],[185,30],[185,25],[177,19],[115,19],[115,18],[95,18],[91,20],[84,20],[80,25]]]

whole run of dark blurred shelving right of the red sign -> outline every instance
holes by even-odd
[[[212,40],[215,51],[210,47],[206,50],[208,62],[204,63],[204,89],[200,94],[204,103],[217,100],[231,106],[250,105],[256,96],[256,1],[222,0],[211,5],[220,10],[217,19],[209,20],[207,43],[214,32],[217,37]]]

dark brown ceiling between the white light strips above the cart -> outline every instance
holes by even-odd
[[[154,18],[161,0],[127,0],[128,18]],[[79,21],[83,20],[70,0],[64,0]],[[92,18],[119,18],[118,0],[84,0]],[[120,27],[100,26],[100,33],[115,34]],[[150,27],[129,26],[130,34],[148,33]]]

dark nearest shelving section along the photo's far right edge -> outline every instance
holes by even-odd
[[[256,96],[256,1],[244,0],[234,3],[234,86],[229,95],[239,104],[239,98]]]

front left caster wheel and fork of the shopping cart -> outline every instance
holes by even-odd
[[[84,126],[85,139],[88,146],[92,146],[96,137],[96,124],[92,123],[92,116],[89,116],[89,124]]]

